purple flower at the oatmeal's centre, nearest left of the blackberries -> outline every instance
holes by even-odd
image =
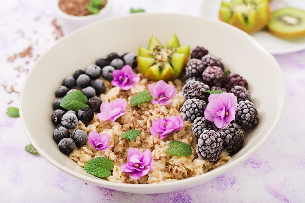
[[[180,116],[171,115],[168,119],[158,118],[152,120],[152,126],[149,128],[152,136],[157,139],[163,139],[173,131],[183,128],[184,121]]]

